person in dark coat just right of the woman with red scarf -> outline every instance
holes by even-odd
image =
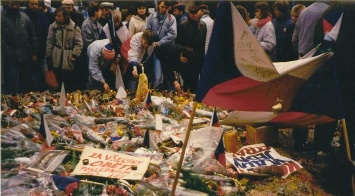
[[[277,0],[272,7],[275,14],[275,18],[271,22],[276,34],[276,62],[285,62],[287,61],[286,56],[291,52],[284,49],[286,29],[292,25],[290,3],[288,0]]]

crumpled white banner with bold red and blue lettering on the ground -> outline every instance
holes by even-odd
[[[279,166],[283,170],[282,178],[286,178],[290,173],[302,168],[296,161],[281,156],[264,143],[243,146],[237,153],[226,153],[226,159],[239,173],[255,173],[254,168]]]

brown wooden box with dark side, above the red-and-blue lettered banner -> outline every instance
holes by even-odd
[[[246,125],[246,143],[271,145],[278,141],[278,130],[270,126],[253,127]]]

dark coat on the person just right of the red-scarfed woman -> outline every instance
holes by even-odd
[[[292,25],[291,18],[285,19],[272,19],[272,25],[275,28],[276,34],[276,62],[287,61],[287,53],[289,51],[285,50],[284,45],[286,40],[286,30]]]

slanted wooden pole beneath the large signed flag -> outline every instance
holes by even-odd
[[[181,171],[182,161],[184,160],[187,142],[189,141],[190,132],[191,132],[191,129],[192,129],[192,122],[194,121],[194,116],[195,116],[195,112],[196,112],[196,107],[197,107],[197,102],[194,101],[194,103],[192,105],[192,112],[191,112],[191,116],[190,116],[189,125],[187,127],[185,140],[184,140],[184,143],[182,144],[182,151],[181,151],[179,163],[177,165],[177,171],[176,171],[176,174],[175,174],[174,185],[173,185],[173,189],[171,191],[171,196],[175,195],[175,191],[176,191],[176,187],[177,187],[177,181],[178,181],[179,174],[180,174],[180,171]]]

